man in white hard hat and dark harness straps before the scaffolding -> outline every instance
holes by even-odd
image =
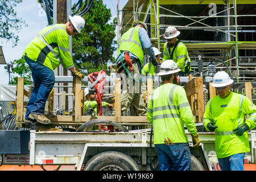
[[[163,36],[167,40],[163,48],[163,61],[174,60],[181,69],[179,76],[188,76],[191,72],[191,60],[188,56],[187,47],[177,39],[178,35],[180,35],[180,31],[177,31],[175,27],[166,28]]]

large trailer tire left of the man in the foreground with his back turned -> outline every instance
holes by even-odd
[[[85,164],[84,171],[139,171],[138,164],[130,156],[117,151],[94,155]]]

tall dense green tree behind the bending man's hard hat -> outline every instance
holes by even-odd
[[[93,1],[93,5],[83,18],[85,26],[81,34],[73,36],[73,60],[76,67],[83,70],[85,75],[105,69],[108,72],[108,61],[113,62],[115,47],[115,25],[108,23],[111,18],[110,9],[102,0]],[[115,18],[112,24],[117,24]]]

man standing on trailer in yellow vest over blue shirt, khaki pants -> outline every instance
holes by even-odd
[[[141,21],[133,22],[132,27],[119,39],[116,69],[120,75],[125,76],[125,86],[121,94],[121,112],[132,104],[138,115],[146,115],[147,110],[141,99],[141,68],[143,66],[144,52],[151,57],[152,64],[157,64],[152,44],[147,35],[147,25]],[[113,111],[114,114],[114,111]]]

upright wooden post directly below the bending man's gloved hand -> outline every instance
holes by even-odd
[[[82,88],[82,78],[73,77],[75,79],[75,122],[81,122],[81,88]]]

